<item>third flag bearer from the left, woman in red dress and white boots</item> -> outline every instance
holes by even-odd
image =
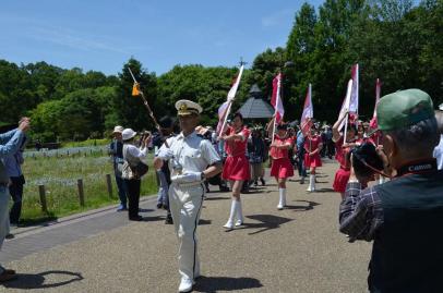
[[[323,147],[322,137],[316,133],[314,126],[311,127],[308,137],[304,139],[304,166],[310,168],[308,192],[315,191],[315,169],[322,167],[322,159],[320,158],[320,150]]]

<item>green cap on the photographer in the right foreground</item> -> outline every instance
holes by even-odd
[[[381,131],[407,127],[433,115],[431,97],[417,88],[386,95],[376,105],[376,120]]]

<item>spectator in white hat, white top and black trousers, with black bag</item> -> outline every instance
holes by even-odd
[[[136,132],[131,129],[125,129],[122,132],[123,139],[123,159],[124,166],[122,170],[122,178],[128,188],[129,209],[128,216],[130,221],[141,221],[143,217],[139,215],[140,203],[140,187],[142,184],[140,175],[133,170],[142,159],[146,158],[147,145],[151,142],[151,135],[146,135],[142,141],[140,147],[134,145]]]

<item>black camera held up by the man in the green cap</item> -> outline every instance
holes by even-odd
[[[363,143],[351,150],[352,168],[357,178],[372,178],[376,171],[383,171],[383,160],[371,143]]]

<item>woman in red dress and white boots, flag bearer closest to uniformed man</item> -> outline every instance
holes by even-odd
[[[225,141],[226,154],[228,155],[222,176],[229,181],[232,190],[229,219],[224,225],[228,230],[232,230],[235,225],[243,224],[240,192],[243,182],[251,178],[249,161],[246,156],[249,134],[249,130],[243,125],[243,117],[240,113],[236,113],[232,119],[232,126],[229,126],[222,136],[222,139]],[[235,218],[237,218],[236,223],[234,223]]]

